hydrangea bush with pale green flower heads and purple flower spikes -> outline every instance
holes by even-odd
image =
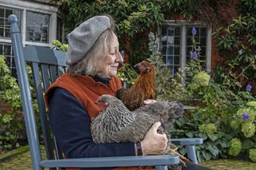
[[[194,40],[196,33],[193,28],[190,61],[174,77],[164,74],[168,68],[162,62],[154,34],[149,36],[152,54],[148,60],[158,65],[155,89],[158,100],[179,99],[185,105],[195,106],[175,121],[171,136],[201,137],[203,144],[196,146],[199,161],[229,156],[253,157],[254,152],[249,156],[249,151],[256,145],[256,101],[250,93],[254,87],[247,85],[242,89],[234,77],[229,81],[234,75],[231,71],[224,75],[222,84],[215,82],[215,77],[203,69],[204,61],[199,60],[201,48]],[[185,80],[182,75],[186,75],[186,84],[181,83]],[[179,152],[185,155],[186,148],[179,146]]]

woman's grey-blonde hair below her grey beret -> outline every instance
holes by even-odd
[[[108,16],[110,17],[110,16]],[[98,61],[104,59],[110,53],[110,42],[114,38],[114,19],[110,17],[111,27],[104,31],[98,40],[94,43],[90,51],[83,57],[82,61],[74,65],[70,65],[67,73],[70,75],[96,75],[100,73]]]

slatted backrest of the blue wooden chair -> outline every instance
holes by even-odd
[[[16,24],[16,21],[11,21]],[[18,26],[11,26],[11,39],[14,49],[14,57],[18,74],[18,81],[21,88],[22,94],[22,108],[24,113],[24,118],[26,121],[26,131],[28,134],[28,140],[30,146],[30,152],[32,154],[32,159],[42,160],[41,152],[39,148],[38,132],[41,132],[44,139],[44,146],[46,149],[46,156],[48,160],[61,159],[62,152],[59,152],[58,144],[54,140],[54,136],[50,132],[50,125],[47,117],[45,101],[43,99],[43,93],[46,89],[53,83],[57,77],[66,72],[66,53],[50,49],[50,47],[29,45],[26,47],[22,46],[21,35],[18,30]],[[30,65],[32,69],[32,75],[28,75],[26,72],[26,65]],[[30,82],[33,80],[33,82]],[[30,87],[33,84],[35,93],[30,94]],[[38,113],[34,112],[33,104],[31,100],[36,97],[38,103]],[[37,127],[36,117],[39,116],[41,127]],[[40,129],[38,130],[37,129]],[[36,162],[37,162],[36,161]],[[33,161],[34,162],[34,161]]]

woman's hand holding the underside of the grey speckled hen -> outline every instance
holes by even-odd
[[[143,155],[158,155],[165,151],[168,140],[165,133],[159,134],[157,132],[160,125],[161,122],[158,121],[146,132],[144,139],[141,141]]]

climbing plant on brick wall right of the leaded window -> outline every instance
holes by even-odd
[[[240,15],[230,26],[220,27],[215,32],[218,39],[217,49],[222,56],[222,65],[215,69],[214,76],[219,82],[225,81],[224,75],[230,74],[230,80],[238,81],[234,89],[252,85],[256,94],[256,6],[255,0],[242,0]],[[219,63],[220,64],[220,63]],[[229,82],[229,85],[232,84]]]

